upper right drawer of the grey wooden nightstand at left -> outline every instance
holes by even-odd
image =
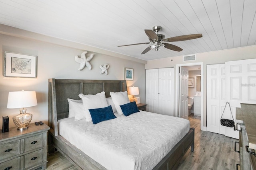
[[[24,141],[25,141],[24,152],[43,147],[43,135],[42,134],[25,138]]]

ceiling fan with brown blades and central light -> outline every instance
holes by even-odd
[[[180,47],[172,44],[168,44],[168,42],[174,42],[174,41],[185,41],[185,40],[190,40],[190,39],[196,39],[203,37],[202,34],[189,34],[189,35],[180,35],[177,37],[170,37],[170,38],[165,38],[164,35],[158,34],[158,31],[162,29],[160,26],[154,26],[151,29],[145,29],[146,35],[148,35],[148,39],[150,43],[137,43],[137,44],[129,44],[129,45],[139,45],[139,44],[149,44],[148,48],[146,48],[144,51],[142,51],[141,54],[145,54],[150,50],[155,50],[158,51],[165,47],[166,49],[174,50],[174,51],[182,51]],[[129,46],[129,45],[120,45],[118,47],[123,47],[123,46]]]

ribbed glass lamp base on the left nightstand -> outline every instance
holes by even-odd
[[[14,124],[18,127],[18,130],[28,129],[28,125],[32,120],[32,114],[20,113],[12,117]]]

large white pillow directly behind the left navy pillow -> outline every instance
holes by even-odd
[[[88,95],[79,94],[78,96],[83,100],[83,106],[85,109],[85,118],[87,122],[92,121],[92,117],[89,109],[98,109],[98,108],[108,106],[105,92],[101,92],[98,94],[88,94]]]

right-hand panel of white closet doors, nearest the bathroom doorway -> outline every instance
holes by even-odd
[[[174,68],[159,68],[158,113],[174,116]]]

